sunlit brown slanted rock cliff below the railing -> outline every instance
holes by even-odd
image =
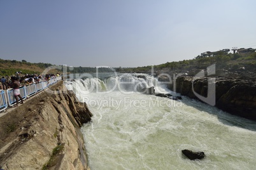
[[[89,169],[80,126],[91,116],[62,81],[10,108],[0,117],[1,169]]]

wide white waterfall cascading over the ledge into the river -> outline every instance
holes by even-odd
[[[69,84],[73,84],[69,86]],[[169,93],[166,84],[159,82],[155,77],[148,74],[121,74],[118,76],[105,77],[103,80],[99,77],[87,79],[72,79],[66,82],[69,90],[78,93],[89,94],[110,93],[112,91],[121,91],[123,93],[139,93],[142,89],[154,87],[157,93]],[[77,94],[77,93],[76,93]]]

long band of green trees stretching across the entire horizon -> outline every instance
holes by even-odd
[[[192,69],[205,69],[206,67],[216,63],[216,66],[221,69],[238,69],[245,67],[253,72],[256,70],[256,52],[239,54],[239,53],[220,53],[216,56],[196,56],[191,60],[182,60],[180,62],[166,62],[160,65],[153,65],[154,70],[192,70]],[[7,66],[7,67],[6,67]],[[20,66],[20,67],[19,67]],[[51,63],[30,63],[25,60],[3,60],[0,59],[0,75],[13,75],[16,72],[22,71],[27,74],[40,74],[47,67],[53,66]],[[27,69],[27,68],[30,69]],[[150,72],[151,65],[144,67],[117,67],[117,68],[96,68],[96,67],[67,67],[67,72],[71,74],[76,73],[96,73],[98,72]],[[56,69],[60,73],[63,71]]]

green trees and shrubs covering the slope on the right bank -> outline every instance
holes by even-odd
[[[155,71],[169,70],[176,72],[184,72],[186,70],[206,69],[210,65],[216,64],[217,69],[237,70],[246,67],[246,70],[256,72],[256,52],[252,53],[219,53],[215,56],[196,56],[191,60],[182,60],[180,62],[166,62],[160,65],[153,65]],[[136,67],[136,68],[118,68],[120,72],[145,72],[148,73],[152,66]]]

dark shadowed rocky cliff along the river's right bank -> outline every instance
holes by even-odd
[[[201,77],[194,81],[190,76],[178,77],[175,82],[176,92],[198,99],[194,92],[207,97],[211,93],[208,87],[213,85],[216,107],[230,114],[256,120],[256,79],[216,77],[213,82],[209,79],[211,77]],[[171,90],[174,90],[173,84],[169,86]]]

